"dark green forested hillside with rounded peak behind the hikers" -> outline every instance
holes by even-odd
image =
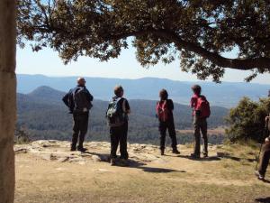
[[[24,127],[32,140],[58,139],[69,140],[72,129],[72,115],[61,101],[65,93],[49,87],[40,87],[30,94],[17,95],[18,127]],[[94,99],[91,111],[87,140],[108,141],[109,128],[106,125],[105,111],[108,102]],[[155,116],[156,101],[130,100],[129,140],[136,143],[158,143],[157,118]],[[211,128],[224,125],[223,117],[228,109],[211,107]],[[175,126],[177,129],[192,127],[191,109],[175,103]],[[189,134],[190,135],[190,134]],[[191,141],[188,134],[177,134],[181,142]],[[212,136],[212,143],[220,143],[220,136]]]

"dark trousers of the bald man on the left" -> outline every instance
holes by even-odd
[[[88,129],[89,113],[73,114],[73,136],[71,147],[76,147],[77,138],[79,137],[79,147],[83,147],[85,141],[85,134]]]

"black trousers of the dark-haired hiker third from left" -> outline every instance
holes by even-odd
[[[172,148],[175,150],[177,148],[177,141],[176,141],[176,133],[175,133],[175,123],[174,121],[166,121],[160,122],[158,130],[160,133],[160,150],[165,149],[165,142],[166,142],[166,130],[168,130],[168,134],[172,141]]]

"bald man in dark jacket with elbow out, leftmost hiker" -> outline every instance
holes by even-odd
[[[63,97],[63,102],[73,114],[73,135],[71,151],[85,152],[84,141],[88,129],[89,111],[92,107],[93,96],[85,87],[85,78],[77,78],[76,88],[72,88]],[[79,138],[79,139],[78,139]],[[78,145],[76,146],[78,141]]]

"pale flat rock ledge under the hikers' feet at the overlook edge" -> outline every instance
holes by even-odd
[[[14,146],[16,153],[31,153],[48,161],[74,162],[85,164],[91,161],[110,161],[110,143],[89,142],[85,143],[87,152],[69,152],[70,143],[56,140],[40,140],[29,144]],[[156,155],[158,147],[148,144],[129,144],[131,161],[139,162],[166,162],[161,156]]]

